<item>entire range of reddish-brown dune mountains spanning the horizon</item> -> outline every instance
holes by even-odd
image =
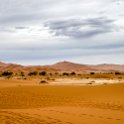
[[[58,62],[53,65],[47,66],[23,66],[18,64],[3,63],[0,62],[0,72],[5,70],[11,70],[14,72],[24,71],[124,71],[124,65],[118,64],[99,64],[99,65],[88,65],[88,64],[76,64],[68,61]]]

